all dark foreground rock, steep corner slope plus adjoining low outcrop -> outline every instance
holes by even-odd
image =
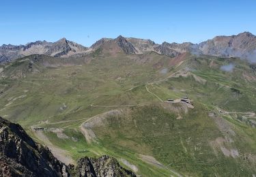
[[[113,157],[84,157],[65,165],[24,129],[0,117],[0,176],[135,176]]]

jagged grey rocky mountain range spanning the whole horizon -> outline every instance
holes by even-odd
[[[79,57],[98,48],[105,48],[112,52],[123,50],[126,54],[157,52],[169,57],[177,57],[177,55],[184,52],[190,52],[197,55],[240,57],[251,62],[256,61],[256,36],[244,32],[232,36],[217,36],[200,44],[190,42],[182,44],[163,42],[162,44],[156,44],[150,39],[122,37],[121,35],[115,39],[102,38],[89,48],[71,42],[66,38],[59,39],[57,42],[37,41],[19,46],[3,44],[0,47],[0,63],[30,54],[46,54],[52,57]]]

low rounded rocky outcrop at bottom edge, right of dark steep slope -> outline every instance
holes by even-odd
[[[91,177],[136,176],[130,170],[119,165],[116,159],[106,155],[98,159],[88,157],[80,159],[76,167],[76,174]]]

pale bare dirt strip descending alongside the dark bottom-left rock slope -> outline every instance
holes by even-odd
[[[47,136],[44,135],[44,131],[38,130],[33,131],[33,133],[40,141],[44,142],[44,145],[51,150],[53,156],[56,157],[59,161],[65,163],[66,165],[74,164],[74,160],[72,157],[70,157],[69,152],[54,146],[52,142],[50,142],[50,140],[47,138]]]

